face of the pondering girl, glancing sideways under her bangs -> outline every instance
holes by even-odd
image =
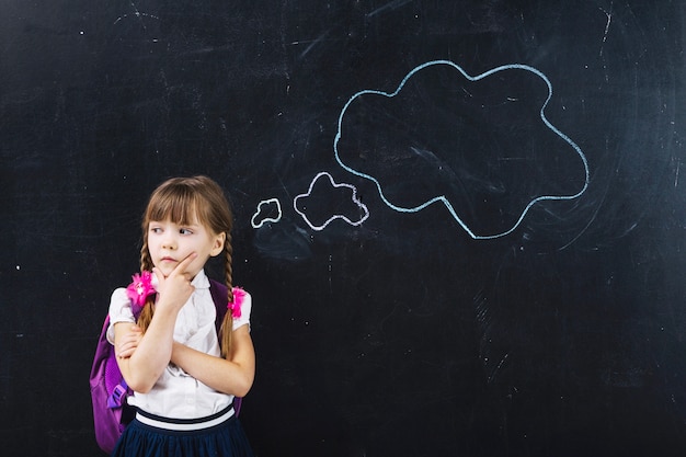
[[[225,241],[226,233],[214,233],[197,219],[187,225],[178,225],[170,219],[152,220],[148,225],[150,256],[165,277],[181,261],[196,252],[197,258],[186,269],[191,277],[195,277],[210,256],[224,250]]]

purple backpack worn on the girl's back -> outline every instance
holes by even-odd
[[[217,334],[227,311],[226,297],[227,287],[214,279],[209,279],[209,292],[217,308],[217,320],[215,325]],[[239,304],[240,305],[240,304]],[[93,423],[95,425],[95,441],[101,449],[111,454],[114,445],[119,439],[126,425],[134,419],[135,409],[126,402],[126,397],[133,391],[122,377],[119,366],[114,355],[114,346],[107,341],[107,328],[110,327],[110,316],[105,317],[93,366],[91,367],[91,402],[93,403]],[[233,409],[238,415],[241,399],[233,399]]]

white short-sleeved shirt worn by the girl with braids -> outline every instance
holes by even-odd
[[[209,279],[201,271],[192,281],[195,292],[181,308],[174,327],[174,341],[219,356],[219,342],[215,319],[217,310],[209,293]],[[233,330],[250,324],[252,298],[245,294],[241,304],[241,317],[233,319]],[[230,312],[230,311],[229,311]],[[114,342],[114,324],[135,322],[132,304],[125,288],[117,288],[110,301],[110,328],[107,340]],[[148,393],[134,392],[129,404],[152,414],[173,419],[204,418],[227,408],[233,396],[221,393],[170,364]]]

